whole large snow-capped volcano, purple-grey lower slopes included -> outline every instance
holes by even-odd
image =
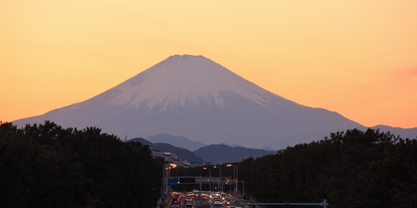
[[[120,137],[126,131],[132,137],[165,133],[204,144],[274,149],[366,128],[272,94],[202,55],[172,55],[86,101],[13,123],[45,120],[63,127],[97,126]]]

